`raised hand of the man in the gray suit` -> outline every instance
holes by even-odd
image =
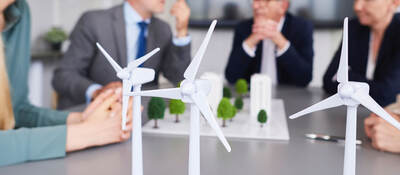
[[[171,15],[176,19],[177,37],[185,37],[188,33],[190,8],[185,0],[177,0],[172,6]]]

